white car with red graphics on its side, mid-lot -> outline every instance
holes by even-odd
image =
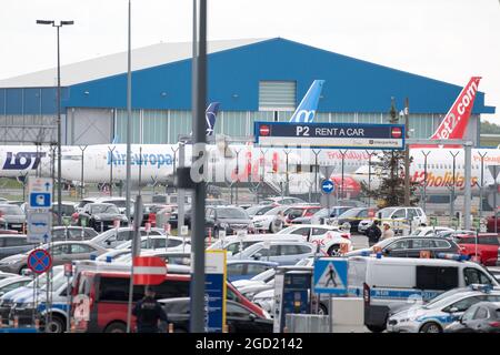
[[[302,235],[307,242],[320,245],[323,253],[336,255],[340,251],[341,244],[347,244],[348,252],[352,251],[351,234],[346,231],[339,231],[337,226],[323,224],[297,224],[281,230],[276,235]]]

